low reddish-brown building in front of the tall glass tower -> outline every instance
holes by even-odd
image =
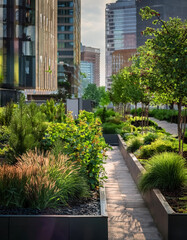
[[[129,58],[136,53],[136,49],[116,50],[112,53],[112,74],[117,74],[124,67],[129,67]]]

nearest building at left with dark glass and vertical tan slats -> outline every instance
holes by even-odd
[[[1,88],[57,90],[56,19],[57,0],[0,0]]]

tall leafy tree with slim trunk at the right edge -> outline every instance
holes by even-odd
[[[142,34],[153,36],[148,39],[144,48],[139,48],[140,68],[149,89],[157,96],[157,101],[177,103],[178,105],[178,138],[179,153],[183,153],[183,139],[185,133],[186,116],[182,117],[182,106],[187,96],[187,21],[179,18],[170,18],[163,21],[160,14],[146,7],[141,9],[142,19],[151,19],[158,29],[146,28]],[[159,97],[160,96],[160,97]]]

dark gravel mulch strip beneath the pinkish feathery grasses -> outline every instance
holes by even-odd
[[[0,206],[0,215],[100,215],[99,193],[94,192],[87,200],[71,202],[67,207],[39,210]]]

